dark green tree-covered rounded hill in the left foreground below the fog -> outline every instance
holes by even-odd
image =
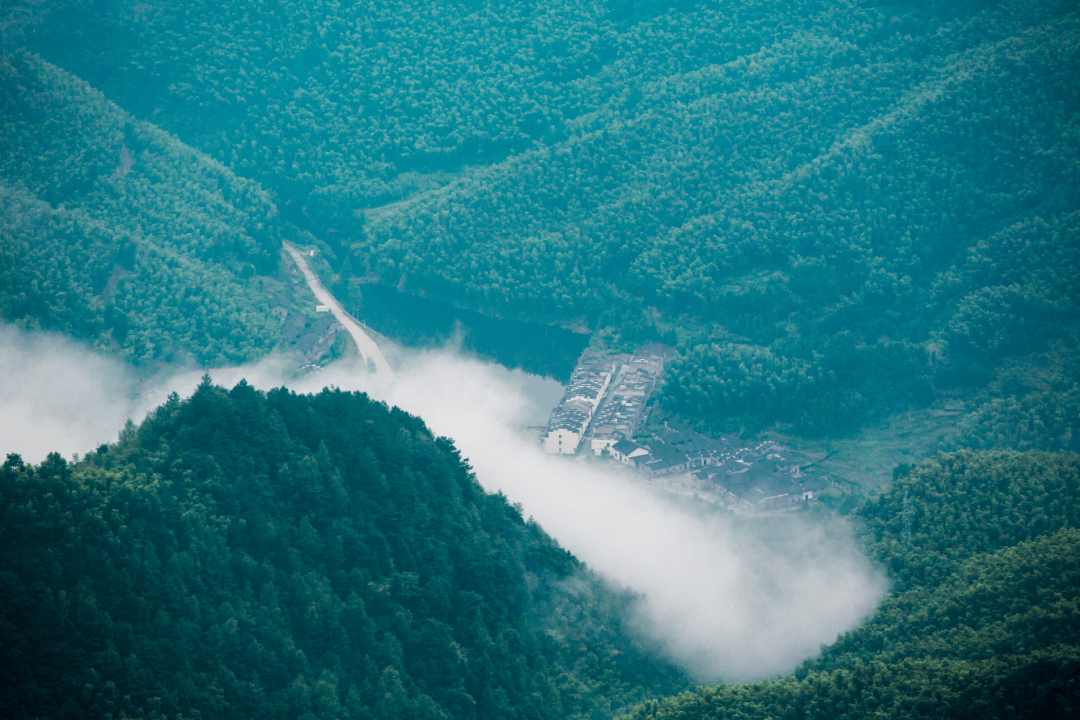
[[[204,382],[0,468],[5,718],[610,717],[685,687],[449,440],[362,394]]]

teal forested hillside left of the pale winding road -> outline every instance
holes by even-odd
[[[27,53],[0,58],[0,317],[129,361],[281,340],[266,193]]]

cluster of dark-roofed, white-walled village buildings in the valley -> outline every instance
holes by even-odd
[[[740,513],[785,512],[816,502],[825,481],[804,473],[810,459],[782,444],[746,445],[734,435],[713,439],[675,422],[646,431],[649,400],[667,354],[659,344],[633,354],[586,350],[552,410],[544,451],[606,458],[665,490]]]

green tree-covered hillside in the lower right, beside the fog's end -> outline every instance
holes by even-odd
[[[864,505],[894,588],[794,676],[632,718],[1072,718],[1080,711],[1080,456],[943,454]]]

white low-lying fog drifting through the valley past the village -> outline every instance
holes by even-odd
[[[0,327],[0,453],[40,462],[112,441],[170,392],[190,394],[202,371],[138,386],[118,362],[71,342]],[[364,390],[454,438],[489,491],[521,503],[567,549],[644,596],[643,630],[702,680],[791,671],[855,626],[886,589],[847,526],[785,517],[748,520],[690,512],[625,472],[544,454],[526,425],[542,424],[557,383],[451,351],[410,358],[393,384],[339,362],[289,379],[280,359],[211,370],[298,392]]]

